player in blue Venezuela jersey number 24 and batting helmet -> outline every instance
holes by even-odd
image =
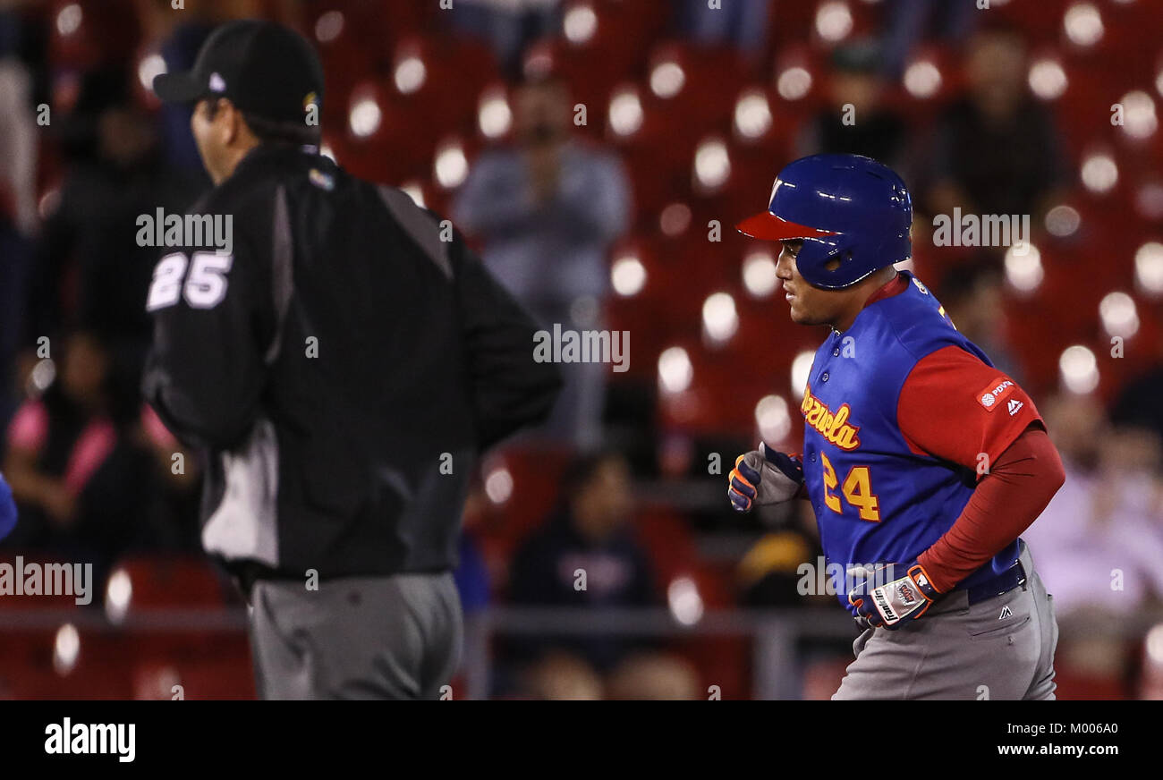
[[[833,699],[1054,699],[1051,596],[1019,535],[1064,473],[1030,398],[962,336],[909,258],[905,183],[868,157],[780,171],[737,226],[783,242],[793,322],[828,325],[804,450],[737,458],[740,511],[812,502],[836,595],[863,628]]]

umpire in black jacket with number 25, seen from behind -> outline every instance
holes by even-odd
[[[202,543],[247,592],[259,694],[436,697],[475,460],[559,387],[536,325],[451,226],[320,156],[297,34],[231,22],[154,90],[194,105],[215,187],[163,220],[144,392],[206,456]]]

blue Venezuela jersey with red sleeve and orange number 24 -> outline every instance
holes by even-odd
[[[841,572],[916,558],[954,524],[990,464],[1041,423],[1029,396],[907,271],[820,345],[801,412],[807,495],[846,607]],[[958,587],[1016,559],[1014,539]]]

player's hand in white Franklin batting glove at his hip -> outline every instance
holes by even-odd
[[[915,621],[941,596],[916,559],[907,564],[877,564],[856,572],[848,603],[861,628],[899,629]]]

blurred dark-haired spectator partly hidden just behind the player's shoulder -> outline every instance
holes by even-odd
[[[939,298],[954,327],[1020,385],[1021,364],[1006,339],[1001,272],[984,259],[956,265],[941,279]]]

